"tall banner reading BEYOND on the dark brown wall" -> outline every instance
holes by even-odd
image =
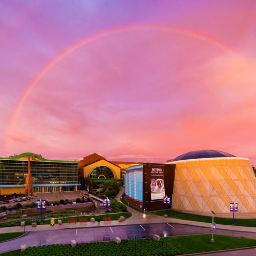
[[[164,180],[163,180],[163,165],[150,165],[151,179],[151,200],[162,200],[165,196]]]

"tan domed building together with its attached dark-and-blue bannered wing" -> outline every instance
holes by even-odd
[[[156,166],[163,168],[162,177],[152,172]],[[158,179],[163,179],[162,194],[157,194],[152,184]],[[249,160],[221,151],[193,151],[166,164],[144,163],[126,169],[127,202],[147,210],[163,209],[164,194],[177,211],[210,215],[214,210],[219,217],[230,217],[229,203],[234,201],[238,218],[254,218],[256,214],[256,178]]]

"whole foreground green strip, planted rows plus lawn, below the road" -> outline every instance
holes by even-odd
[[[170,256],[179,254],[200,253],[256,246],[256,240],[238,237],[228,237],[214,234],[215,243],[211,243],[211,234],[194,236],[177,236],[135,240],[121,240],[120,244],[111,242],[93,242],[71,245],[42,245],[28,247],[25,251],[15,250],[0,254],[0,256]]]

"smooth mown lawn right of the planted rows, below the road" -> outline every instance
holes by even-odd
[[[174,245],[184,254],[256,246],[254,239],[221,236],[220,234],[214,234],[215,243],[210,242],[211,234],[168,237],[161,238],[161,240]]]

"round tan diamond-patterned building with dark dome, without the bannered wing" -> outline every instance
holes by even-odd
[[[172,208],[220,217],[232,214],[229,203],[238,203],[237,218],[256,214],[256,178],[247,158],[215,151],[192,151],[178,156],[175,164]]]

